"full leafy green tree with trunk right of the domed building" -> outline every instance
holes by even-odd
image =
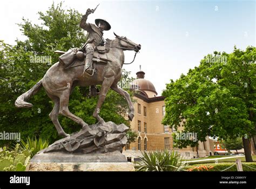
[[[246,161],[252,161],[250,138],[255,134],[256,48],[233,53],[214,52],[200,65],[166,85],[166,115],[163,124],[184,126],[183,132],[206,136],[242,137]],[[182,123],[182,124],[181,124]],[[196,146],[192,140],[177,140],[179,147]]]

